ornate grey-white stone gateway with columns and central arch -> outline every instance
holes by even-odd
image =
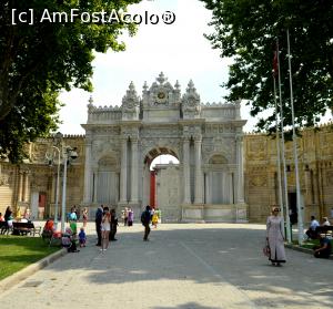
[[[202,104],[192,81],[181,95],[163,73],[139,97],[130,83],[122,105],[88,105],[84,200],[87,206],[149,204],[150,162],[160,154],[180,161],[174,182],[178,205],[163,219],[248,220],[243,186],[240,102]],[[160,205],[163,208],[163,205]]]

